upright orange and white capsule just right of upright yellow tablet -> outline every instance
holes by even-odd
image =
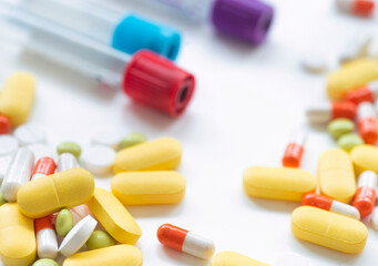
[[[361,217],[369,215],[376,205],[378,176],[372,171],[365,171],[358,177],[357,191],[353,205]]]

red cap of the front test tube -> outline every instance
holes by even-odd
[[[185,110],[194,86],[193,74],[151,51],[135,53],[123,75],[123,90],[130,98],[172,116]]]

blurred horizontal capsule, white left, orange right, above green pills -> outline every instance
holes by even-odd
[[[307,120],[314,125],[326,125],[335,119],[354,120],[356,113],[356,105],[350,102],[323,103],[306,110]]]

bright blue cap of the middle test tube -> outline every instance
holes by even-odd
[[[180,45],[181,35],[176,30],[134,14],[121,20],[112,40],[112,47],[122,52],[132,54],[147,49],[171,60],[176,59]]]

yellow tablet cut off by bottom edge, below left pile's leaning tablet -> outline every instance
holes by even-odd
[[[132,245],[116,245],[90,252],[76,253],[67,258],[63,266],[142,266],[143,255]]]

